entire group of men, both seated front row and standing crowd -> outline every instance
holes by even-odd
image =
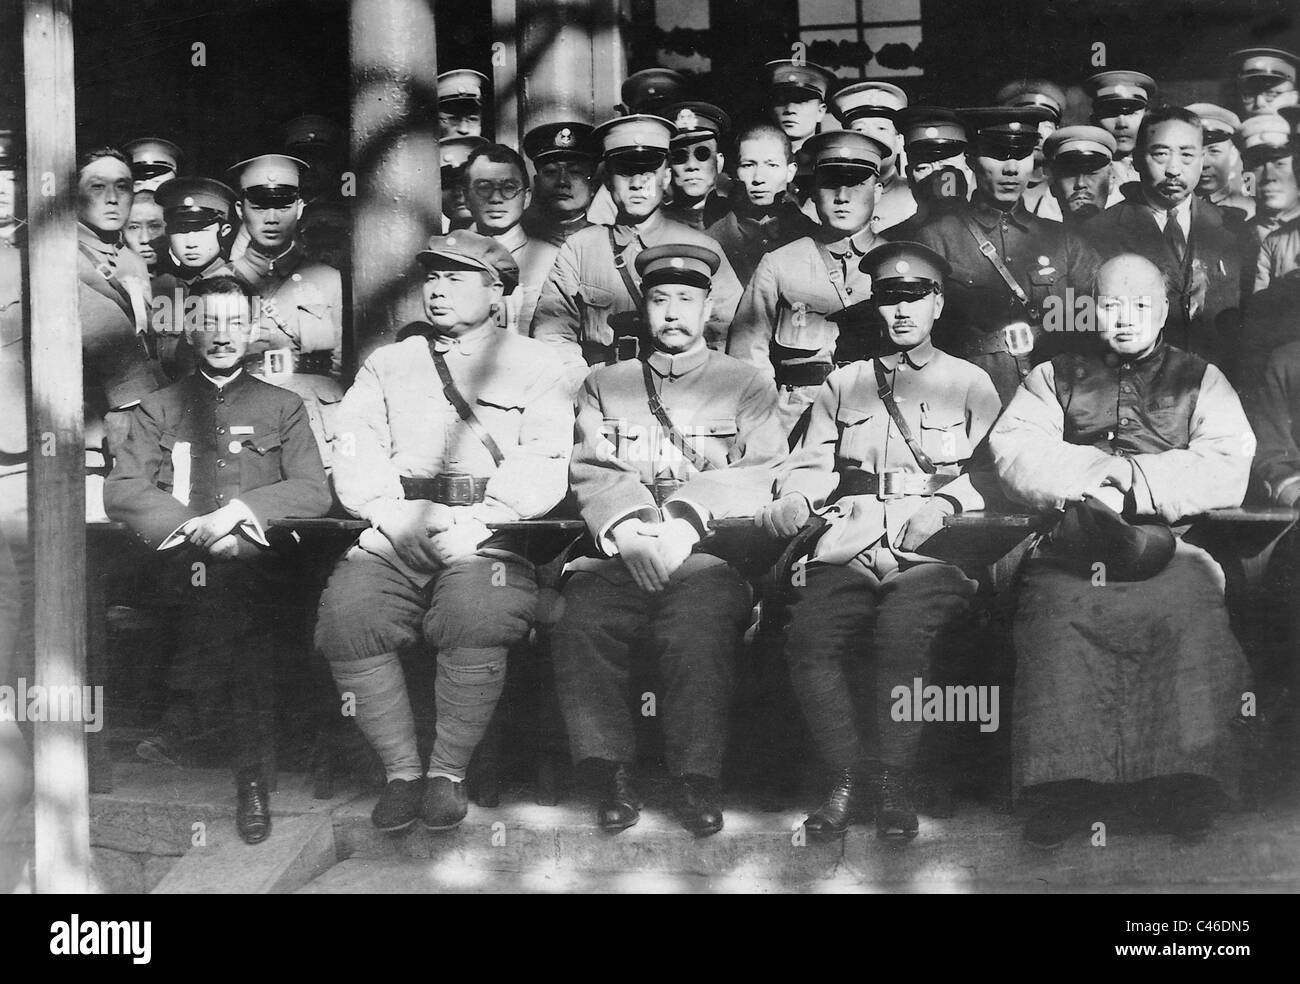
[[[759,589],[829,772],[807,833],[907,841],[946,807],[922,796],[931,718],[898,690],[937,679],[978,591],[940,534],[1019,510],[1052,517],[1014,585],[1026,838],[1117,814],[1205,836],[1242,796],[1252,672],[1295,693],[1294,650],[1252,666],[1234,636],[1230,559],[1183,536],[1248,491],[1300,499],[1300,58],[1230,61],[1240,114],[1106,70],[1070,126],[1046,79],[950,109],[789,60],[734,126],[649,69],[616,118],[529,130],[526,161],[481,134],[486,79],[445,73],[424,320],[355,370],[341,127],[299,117],[224,181],[164,139],[87,152],[88,519],[126,523],[187,612],[139,754],[183,762],[229,689],[237,825],[269,835],[272,629],[300,580],[274,521],[350,515],[369,525],[315,651],[382,762],[380,829],[464,819],[510,654],[543,632],[601,827],[642,809],[653,660],[672,807],[720,831]],[[21,168],[0,153],[0,576],[30,585]],[[559,555],[519,525],[549,516],[588,533]],[[1274,552],[1290,606],[1290,536]],[[428,754],[412,658],[436,667]]]

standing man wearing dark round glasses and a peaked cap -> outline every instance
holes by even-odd
[[[677,131],[668,144],[672,201],[663,213],[703,231],[731,211],[719,188],[725,164],[720,148],[731,131],[731,117],[711,103],[677,103],[668,107],[667,118]]]

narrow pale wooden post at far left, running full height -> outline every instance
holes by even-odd
[[[35,441],[36,685],[86,684],[86,480],[77,303],[77,125],[72,0],[25,0],[27,307]],[[60,690],[61,692],[61,690]],[[57,693],[57,692],[56,692]],[[90,890],[90,793],[81,721],[35,732],[36,890]]]

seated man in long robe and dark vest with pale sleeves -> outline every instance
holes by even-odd
[[[1253,437],[1223,373],[1165,341],[1167,313],[1153,263],[1108,260],[1101,343],[1035,368],[989,437],[1010,498],[1066,511],[1013,634],[1013,781],[1044,786],[1024,828],[1041,846],[1128,810],[1204,836],[1238,784],[1249,684],[1223,572],[1170,526],[1242,503]]]

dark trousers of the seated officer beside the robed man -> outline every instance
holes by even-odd
[[[944,629],[976,585],[952,564],[915,564],[879,580],[855,568],[810,564],[788,612],[790,682],[826,763],[875,759],[911,768],[920,721],[896,721],[896,686],[909,693],[942,649]]]

